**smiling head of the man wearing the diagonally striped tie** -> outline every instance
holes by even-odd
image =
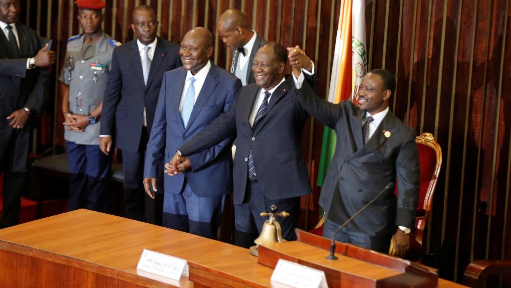
[[[265,90],[271,90],[284,77],[286,63],[278,61],[273,53],[273,47],[263,46],[255,53],[252,74],[255,77],[255,84]]]

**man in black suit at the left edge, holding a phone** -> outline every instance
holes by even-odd
[[[38,124],[55,52],[41,49],[36,32],[18,22],[17,0],[0,0],[0,172],[4,173],[0,228],[18,224],[30,133]]]

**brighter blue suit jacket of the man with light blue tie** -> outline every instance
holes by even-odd
[[[202,89],[190,115],[187,127],[183,126],[179,102],[187,71],[179,67],[164,75],[156,106],[156,114],[147,144],[144,177],[156,178],[161,160],[169,162],[188,138],[197,135],[235,101],[241,81],[225,69],[211,63]],[[230,193],[233,137],[225,137],[217,145],[190,156],[192,170],[176,176],[164,176],[166,193],[178,194],[184,177],[199,197],[220,196]],[[165,154],[164,154],[165,150]]]

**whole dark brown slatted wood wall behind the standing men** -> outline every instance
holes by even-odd
[[[80,33],[73,0],[25,0],[21,21],[57,40],[57,67],[65,39]],[[247,13],[253,28],[269,41],[300,45],[316,64],[324,97],[330,81],[341,0],[109,0],[104,30],[115,39],[133,39],[131,11],[154,7],[158,35],[179,42],[189,29],[215,33],[227,8]],[[508,0],[366,0],[369,68],[398,77],[391,108],[419,132],[432,132],[444,163],[425,238],[426,252],[447,243],[448,273],[460,281],[475,259],[509,259],[511,213],[511,4]],[[216,40],[214,61],[229,67],[230,51]],[[60,98],[53,79],[39,147],[62,146]],[[308,122],[303,147],[311,181],[316,182],[322,127]],[[315,185],[314,185],[315,186]],[[304,201],[310,228],[317,220],[318,187]],[[307,227],[308,226],[308,227]],[[440,254],[440,253],[437,253]]]

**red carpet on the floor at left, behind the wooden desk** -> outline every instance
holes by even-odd
[[[0,176],[0,199],[4,187],[4,175]],[[19,223],[26,223],[36,220],[36,202],[21,197],[21,211]],[[3,208],[3,201],[0,201],[0,212]],[[42,217],[49,217],[67,211],[67,199],[63,200],[45,200],[42,202]]]

